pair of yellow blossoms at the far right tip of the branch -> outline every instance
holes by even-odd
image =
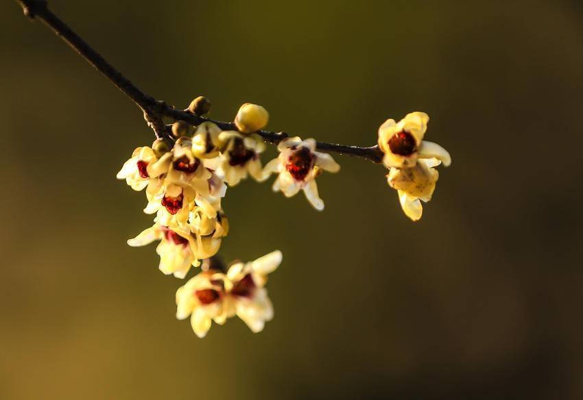
[[[413,221],[423,214],[421,201],[431,200],[436,188],[439,173],[435,167],[451,164],[443,147],[423,140],[428,122],[425,112],[412,112],[398,123],[388,119],[379,127],[383,164],[389,169],[388,184],[397,190],[403,212]]]

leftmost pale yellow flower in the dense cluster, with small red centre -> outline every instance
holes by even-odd
[[[138,147],[117,173],[117,179],[126,179],[132,189],[139,191],[147,186],[150,179],[165,173],[169,164],[169,155],[164,154],[158,160],[150,147]]]

